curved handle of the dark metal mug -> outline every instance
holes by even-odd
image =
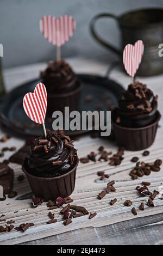
[[[101,18],[106,18],[106,17],[110,17],[110,18],[114,18],[114,19],[118,20],[118,17],[116,17],[114,14],[101,13],[101,14],[96,15],[95,17],[92,18],[92,20],[90,22],[91,34],[92,34],[93,38],[95,38],[95,40],[98,41],[100,44],[102,44],[109,50],[114,51],[116,54],[121,56],[122,55],[121,50],[118,50],[118,48],[112,46],[111,44],[109,44],[108,42],[106,42],[105,40],[100,38],[100,36],[96,33],[95,25],[96,25],[97,20],[99,20]]]

